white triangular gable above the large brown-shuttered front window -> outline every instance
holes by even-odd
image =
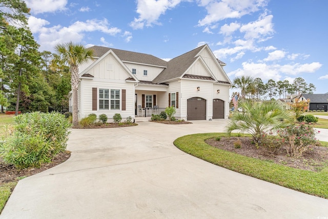
[[[109,50],[103,56],[98,58],[80,75],[91,75],[94,78],[126,80],[132,78],[137,81],[130,70],[120,61],[112,50]]]

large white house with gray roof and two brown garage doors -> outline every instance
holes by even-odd
[[[79,68],[79,119],[95,113],[159,114],[176,107],[184,120],[228,118],[231,81],[208,45],[169,62],[153,55],[93,46],[95,59]],[[71,106],[72,95],[69,94]]]

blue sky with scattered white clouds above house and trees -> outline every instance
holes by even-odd
[[[73,41],[170,59],[203,44],[231,81],[250,75],[328,88],[325,0],[27,0],[40,50]]]

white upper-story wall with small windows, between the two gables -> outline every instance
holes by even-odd
[[[132,63],[124,63],[128,69],[132,72],[134,68],[136,70],[135,76],[140,81],[153,81],[155,77],[158,76],[160,72],[162,72],[165,68],[149,66],[149,65],[140,65],[140,64],[132,64]],[[144,70],[147,70],[147,76],[144,76]]]

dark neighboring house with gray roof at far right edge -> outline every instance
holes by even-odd
[[[306,101],[310,99],[308,110],[324,110],[328,108],[328,94],[300,94],[299,100]]]

